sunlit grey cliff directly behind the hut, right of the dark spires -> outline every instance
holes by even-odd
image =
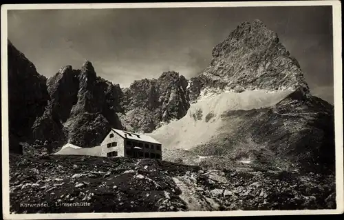
[[[161,123],[181,119],[190,107],[187,86],[188,81],[177,72],[134,81],[124,90],[123,124],[128,130],[151,132]]]

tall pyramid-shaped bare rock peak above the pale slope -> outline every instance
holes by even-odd
[[[241,23],[212,52],[211,65],[191,79],[191,100],[209,90],[297,90],[309,88],[299,63],[259,20]]]

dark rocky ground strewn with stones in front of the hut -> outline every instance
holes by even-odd
[[[154,159],[11,155],[10,212],[334,209],[334,183],[331,174],[206,170]],[[41,203],[43,207],[30,207]]]

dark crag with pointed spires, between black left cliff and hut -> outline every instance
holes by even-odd
[[[47,81],[51,100],[34,123],[34,139],[92,147],[102,141],[111,127],[122,128],[116,112],[122,91],[96,76],[92,63],[80,70],[65,66]]]

